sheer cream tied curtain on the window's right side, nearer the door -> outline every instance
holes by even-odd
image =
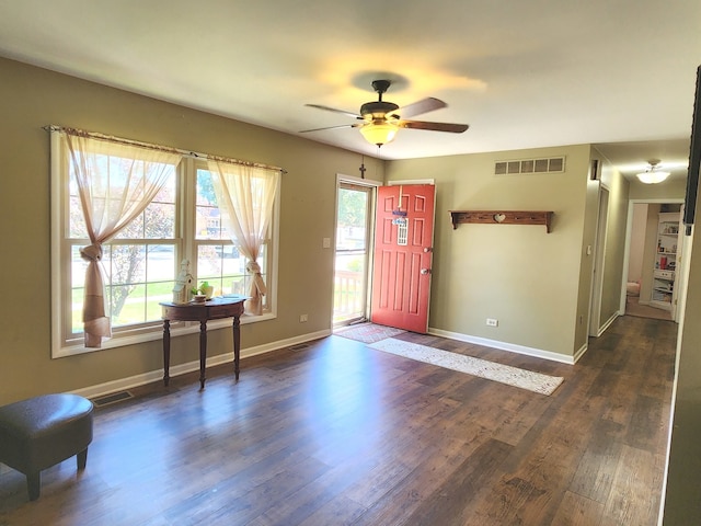
[[[267,287],[257,259],[273,217],[280,171],[217,159],[209,159],[208,165],[221,220],[231,232],[232,241],[249,260],[246,271],[252,276],[252,283],[245,310],[251,315],[261,315],[262,296],[267,293]]]

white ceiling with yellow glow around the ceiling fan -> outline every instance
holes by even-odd
[[[698,0],[0,0],[0,56],[298,134],[384,100],[448,107],[383,146],[357,129],[303,137],[384,159],[600,145],[625,175],[685,176],[701,62]]]

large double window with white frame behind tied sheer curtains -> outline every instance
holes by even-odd
[[[125,159],[101,145],[95,164],[108,173],[105,181],[117,182],[123,173],[145,171],[149,164]],[[93,351],[84,345],[83,302],[89,263],[81,249],[91,244],[82,213],[76,159],[58,132],[51,133],[51,267],[53,267],[53,356]],[[80,162],[80,161],[78,161]],[[127,163],[129,169],[123,170]],[[246,259],[232,241],[221,220],[207,162],[182,157],[172,165],[161,165],[163,178],[158,192],[142,211],[136,214],[108,241],[102,243],[105,318],[112,324],[112,339],[100,348],[110,348],[162,335],[160,301],[173,298],[172,289],[182,260],[197,284],[207,281],[215,295],[248,295],[252,277]],[[92,196],[94,198],[94,196]],[[275,197],[276,204],[278,202]],[[106,199],[105,199],[106,201]],[[97,202],[108,207],[110,203]],[[273,272],[277,207],[267,228],[258,256],[268,294],[261,316],[244,316],[242,323],[275,316],[275,273]],[[208,327],[228,324],[227,320]],[[192,323],[174,324],[173,334],[198,331]]]

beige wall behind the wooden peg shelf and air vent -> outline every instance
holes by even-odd
[[[494,175],[496,160],[566,157],[566,172]],[[429,327],[572,357],[578,304],[589,147],[393,161],[391,181],[435,179]],[[459,225],[448,210],[552,210],[541,226]],[[587,291],[588,294],[588,291]],[[486,318],[498,327],[486,327]]]

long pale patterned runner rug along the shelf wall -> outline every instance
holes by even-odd
[[[403,342],[402,340],[393,338],[381,340],[368,346],[447,369],[479,376],[487,380],[499,381],[520,389],[528,389],[529,391],[539,392],[540,395],[552,395],[564,380],[564,378],[559,376],[549,376],[531,370],[519,369],[518,367],[501,365],[494,362],[487,362],[486,359],[450,353],[416,343]]]

